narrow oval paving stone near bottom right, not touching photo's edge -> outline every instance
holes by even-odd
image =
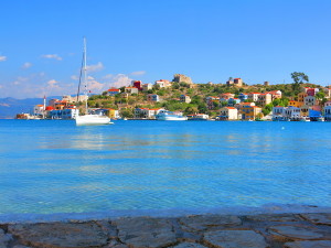
[[[308,227],[298,227],[298,226],[271,226],[268,228],[268,231],[276,236],[276,238],[290,238],[292,240],[298,239],[320,239],[323,237],[322,234],[319,234],[317,230]]]

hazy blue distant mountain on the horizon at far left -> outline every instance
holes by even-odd
[[[57,98],[62,99],[58,96],[52,96],[46,98],[49,99]],[[43,98],[26,98],[26,99],[15,99],[12,97],[0,98],[0,119],[13,119],[17,114],[33,111],[35,105],[42,105],[44,103]]]

